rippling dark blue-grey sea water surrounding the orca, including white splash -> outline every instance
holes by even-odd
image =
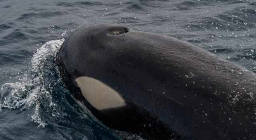
[[[173,36],[256,72],[256,0],[0,0],[0,140],[141,139],[107,128],[64,88],[55,54],[92,23]]]

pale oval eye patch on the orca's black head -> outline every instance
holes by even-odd
[[[76,83],[85,99],[96,109],[110,109],[126,105],[117,91],[99,80],[82,76],[76,79]]]

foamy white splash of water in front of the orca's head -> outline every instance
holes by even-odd
[[[42,127],[47,125],[40,116],[40,105],[43,102],[44,105],[53,108],[56,106],[52,101],[52,89],[56,82],[60,81],[60,77],[53,78],[56,74],[58,75],[54,56],[63,42],[64,39],[46,42],[33,55],[32,67],[25,72],[26,78],[22,78],[20,82],[2,85],[0,88],[0,111],[4,108],[22,111],[32,107],[34,115],[31,116],[31,121]],[[58,112],[55,114],[58,115]],[[53,113],[53,116],[56,115]]]

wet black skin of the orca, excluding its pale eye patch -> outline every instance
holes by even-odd
[[[74,31],[58,54],[64,82],[104,124],[148,140],[255,140],[256,76],[178,39],[116,24]],[[75,80],[115,89],[127,106],[99,111]]]

